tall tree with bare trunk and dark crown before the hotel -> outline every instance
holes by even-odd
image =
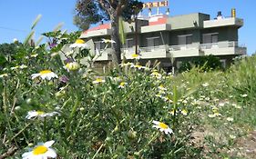
[[[121,63],[121,43],[118,35],[119,17],[122,16],[125,21],[128,21],[142,7],[143,3],[138,0],[77,0],[74,22],[79,28],[87,29],[90,24],[110,20],[111,39],[116,42],[111,45],[114,51],[112,61],[114,65],[118,65]]]

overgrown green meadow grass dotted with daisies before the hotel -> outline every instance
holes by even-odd
[[[6,153],[20,158],[49,140],[56,142],[58,158],[251,158],[246,142],[256,122],[255,56],[225,72],[193,68],[172,76],[125,65],[101,76],[83,64],[77,70],[63,68],[55,53],[75,42],[74,36],[58,35],[55,48],[20,44],[19,58],[1,71],[7,74],[0,78],[2,158]],[[31,78],[45,69],[58,78]],[[98,77],[103,81],[96,84]],[[27,119],[33,110],[58,114]],[[154,120],[174,133],[159,132]]]

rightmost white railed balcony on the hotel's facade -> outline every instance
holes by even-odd
[[[236,41],[201,44],[200,50],[204,55],[246,55],[246,47],[241,47]]]

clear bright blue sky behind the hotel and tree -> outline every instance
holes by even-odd
[[[67,29],[68,32],[77,31],[77,26],[73,25],[76,2],[77,0],[0,0],[0,44],[12,43],[14,38],[23,41],[30,33],[37,15],[42,15],[42,18],[36,25],[36,38],[52,31],[60,23],[64,24],[62,29]],[[256,51],[255,6],[255,0],[169,0],[171,16],[200,12],[214,18],[218,11],[224,16],[230,16],[231,8],[236,8],[237,17],[244,19],[244,25],[239,30],[239,43],[247,46],[249,55]],[[162,13],[164,10],[165,8]]]

